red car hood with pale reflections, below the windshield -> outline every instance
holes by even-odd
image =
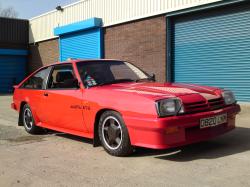
[[[181,97],[184,95],[200,95],[210,99],[218,95],[219,88],[200,86],[195,84],[177,84],[177,83],[120,83],[102,86],[103,89],[109,89],[115,92],[125,92],[136,94],[153,99]]]

